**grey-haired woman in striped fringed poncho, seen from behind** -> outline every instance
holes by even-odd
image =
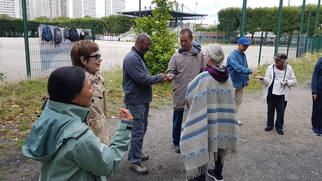
[[[187,180],[223,180],[223,158],[237,151],[237,119],[229,71],[220,45],[207,46],[205,72],[188,85],[181,133]],[[215,161],[215,169],[209,169]]]

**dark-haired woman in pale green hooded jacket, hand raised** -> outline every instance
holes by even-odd
[[[81,91],[73,93],[70,90],[77,89],[74,79],[84,83]],[[47,106],[22,147],[24,155],[41,162],[39,180],[105,181],[128,150],[131,113],[121,109],[121,123],[108,147],[85,124],[93,90],[81,68],[56,69],[49,78],[48,92]]]

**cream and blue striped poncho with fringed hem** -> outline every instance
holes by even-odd
[[[198,168],[209,167],[213,153],[223,158],[236,152],[238,126],[230,78],[218,82],[208,72],[195,77],[187,88],[183,125],[180,150],[188,175],[204,174]]]

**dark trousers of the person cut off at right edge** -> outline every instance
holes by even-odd
[[[313,128],[322,129],[322,90],[318,91],[316,100],[313,100],[311,121]]]

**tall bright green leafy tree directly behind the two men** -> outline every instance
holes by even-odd
[[[170,33],[168,20],[173,19],[169,12],[173,11],[174,4],[168,0],[153,0],[156,4],[152,11],[152,16],[136,19],[134,31],[137,34],[147,33],[153,44],[145,55],[145,60],[151,74],[165,72],[168,62],[177,48],[178,37],[175,33]]]

